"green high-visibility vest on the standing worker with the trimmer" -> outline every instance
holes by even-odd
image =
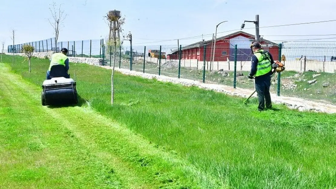
[[[254,55],[258,59],[257,73],[255,74],[255,77],[265,75],[272,70],[271,60],[269,58],[268,52],[265,52],[261,49],[255,52]]]

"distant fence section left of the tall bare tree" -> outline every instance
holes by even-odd
[[[45,40],[40,40],[40,41],[33,41],[33,42],[28,42],[28,43],[16,44],[16,45],[8,45],[7,52],[8,53],[22,53],[23,45],[33,46],[35,52],[56,51],[55,38],[50,38],[50,39],[45,39]]]

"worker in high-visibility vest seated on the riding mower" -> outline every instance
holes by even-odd
[[[61,52],[54,53],[51,56],[49,69],[47,71],[47,80],[51,79],[50,78],[50,69],[51,69],[51,66],[53,66],[53,65],[64,65],[65,66],[65,70],[66,70],[65,74],[68,76],[66,78],[70,78],[70,75],[68,74],[68,70],[69,70],[69,58],[68,58],[67,54],[68,54],[68,49],[67,48],[62,48]]]

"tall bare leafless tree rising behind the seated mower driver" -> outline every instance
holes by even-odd
[[[57,41],[59,36],[59,28],[62,22],[67,17],[67,14],[64,15],[64,10],[61,10],[61,5],[57,6],[55,2],[52,2],[52,4],[49,7],[49,10],[52,15],[52,21],[49,20],[50,25],[54,29],[55,34],[55,50],[57,52]]]

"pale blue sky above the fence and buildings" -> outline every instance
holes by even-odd
[[[336,19],[335,0],[57,0],[67,17],[59,41],[100,39],[108,34],[103,16],[109,10],[120,10],[126,17],[125,32],[132,32],[134,45],[175,45],[177,41],[148,43],[178,39],[215,32],[240,29],[244,20],[254,20],[259,14],[260,27]],[[48,22],[52,0],[2,0],[0,6],[0,41],[12,44],[11,30],[15,30],[15,44],[48,39],[54,36]],[[254,27],[246,23],[246,28]],[[254,29],[245,32],[255,34]],[[260,35],[268,40],[315,39],[336,36],[278,36],[336,34],[336,22],[310,25],[260,28]],[[217,37],[227,35],[220,33]],[[204,39],[211,39],[212,35]],[[180,40],[186,45],[200,41]],[[330,40],[324,40],[330,41]],[[336,41],[336,39],[332,39]]]

